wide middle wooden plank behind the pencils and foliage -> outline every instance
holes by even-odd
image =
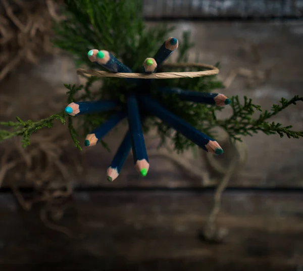
[[[158,25],[149,23],[149,25]],[[220,76],[222,79],[233,69],[244,67],[247,69],[264,70],[275,64],[271,77],[263,84],[252,88],[247,87],[246,79],[238,76],[229,88],[224,90],[228,97],[233,95],[246,95],[260,104],[264,109],[270,109],[273,103],[278,103],[281,97],[290,98],[293,95],[302,95],[302,54],[303,24],[292,23],[176,23],[176,30],[172,33],[181,38],[183,30],[190,29],[192,38],[196,43],[190,52],[189,60],[194,60],[196,53],[204,63],[214,64],[221,61]],[[251,47],[257,48],[261,62],[257,63],[256,57],[251,53]],[[250,48],[250,49],[249,49]],[[257,54],[257,55],[258,55]],[[255,54],[256,55],[256,54]],[[41,89],[47,89],[46,100],[52,99],[52,88],[61,93],[65,90],[63,82],[74,82],[75,70],[71,62],[62,65],[61,57],[53,61],[42,63],[40,67],[20,71],[10,81],[2,83],[2,95],[13,96],[12,104],[0,99],[2,110],[11,111],[11,117],[16,115],[27,118],[41,112],[48,116],[52,112],[45,111],[45,100],[41,97]],[[68,66],[67,72],[61,71],[60,65]],[[58,72],[60,70],[60,72]],[[64,76],[63,76],[64,75]],[[54,91],[55,92],[55,91]],[[24,96],[23,94],[26,93]],[[37,95],[39,93],[39,95]],[[16,99],[16,97],[20,97]],[[39,100],[36,100],[39,97]],[[22,98],[22,99],[21,99]],[[57,98],[58,99],[58,98]],[[62,96],[64,108],[65,98]],[[60,104],[60,100],[57,103]],[[25,105],[24,108],[22,105]],[[33,110],[33,112],[31,111]],[[49,110],[49,109],[47,109]],[[57,112],[59,109],[54,109]],[[25,111],[23,114],[22,112]],[[219,117],[226,117],[230,110],[226,108]],[[31,116],[29,116],[31,118]],[[80,116],[79,116],[80,117]],[[272,121],[285,125],[293,125],[294,129],[303,129],[303,103],[291,106],[285,112],[277,115]],[[201,176],[191,176],[180,165],[170,161],[167,157],[150,156],[150,170],[146,178],[138,176],[132,164],[130,156],[126,161],[121,176],[113,183],[106,181],[106,168],[110,164],[125,128],[119,132],[112,132],[106,141],[112,148],[112,153],[107,153],[101,146],[87,150],[84,158],[90,165],[88,174],[83,177],[76,176],[75,183],[78,186],[164,186],[164,187],[201,187],[214,185],[219,180],[219,175],[208,175],[205,161],[197,161],[192,154],[187,152],[180,160],[193,163],[200,168]],[[66,137],[69,138],[68,132]],[[248,147],[248,162],[241,167],[237,176],[233,176],[230,185],[235,187],[303,187],[303,144],[302,140],[280,139],[279,136],[266,136],[258,134],[252,138],[244,139]],[[148,152],[151,153],[157,146],[158,140],[146,136]],[[74,154],[74,152],[73,152]],[[2,154],[0,153],[0,156]],[[67,157],[68,157],[67,153]],[[74,168],[69,169],[70,172]],[[11,177],[15,180],[14,177]],[[6,183],[9,182],[9,177]],[[20,182],[24,184],[24,180]]]

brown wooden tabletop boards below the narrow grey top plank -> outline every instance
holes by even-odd
[[[178,38],[181,29],[193,32],[196,47],[190,59],[199,52],[205,63],[221,60],[222,79],[239,67],[264,70],[275,64],[263,85],[249,88],[245,78],[237,77],[226,96],[247,95],[265,109],[283,96],[302,96],[301,23],[180,23],[173,33]],[[249,44],[258,48],[261,62],[252,57]],[[17,97],[22,86],[29,106],[42,86],[50,93],[67,82],[58,76],[75,74],[74,68],[58,72],[59,62],[42,63],[0,89]],[[17,100],[13,115],[20,115]],[[298,104],[273,121],[303,129],[302,109]],[[219,117],[229,113],[226,109]],[[113,135],[107,142],[115,151],[123,133]],[[157,140],[146,142],[151,150]],[[229,231],[223,243],[199,238],[220,176],[206,183],[169,159],[154,156],[143,179],[129,157],[121,176],[109,184],[106,168],[113,153],[98,146],[83,154],[87,175],[74,177],[78,191],[58,221],[71,237],[45,227],[43,206],[26,212],[10,193],[0,194],[0,270],[303,270],[302,141],[258,134],[245,142],[248,163],[232,177],[233,189],[224,194],[218,218],[218,225]],[[184,157],[190,159],[190,153]],[[198,166],[207,172],[205,163]]]

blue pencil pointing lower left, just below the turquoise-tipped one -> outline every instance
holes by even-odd
[[[102,139],[111,129],[113,129],[122,119],[126,117],[125,111],[113,115],[105,123],[95,128],[91,133],[87,134],[84,145],[95,146],[97,142]]]

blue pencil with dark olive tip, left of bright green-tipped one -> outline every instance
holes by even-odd
[[[131,149],[131,137],[129,130],[126,132],[123,141],[120,144],[120,147],[115,154],[115,157],[107,170],[107,179],[109,182],[113,182],[119,174],[123,167],[123,164],[130,152]]]

